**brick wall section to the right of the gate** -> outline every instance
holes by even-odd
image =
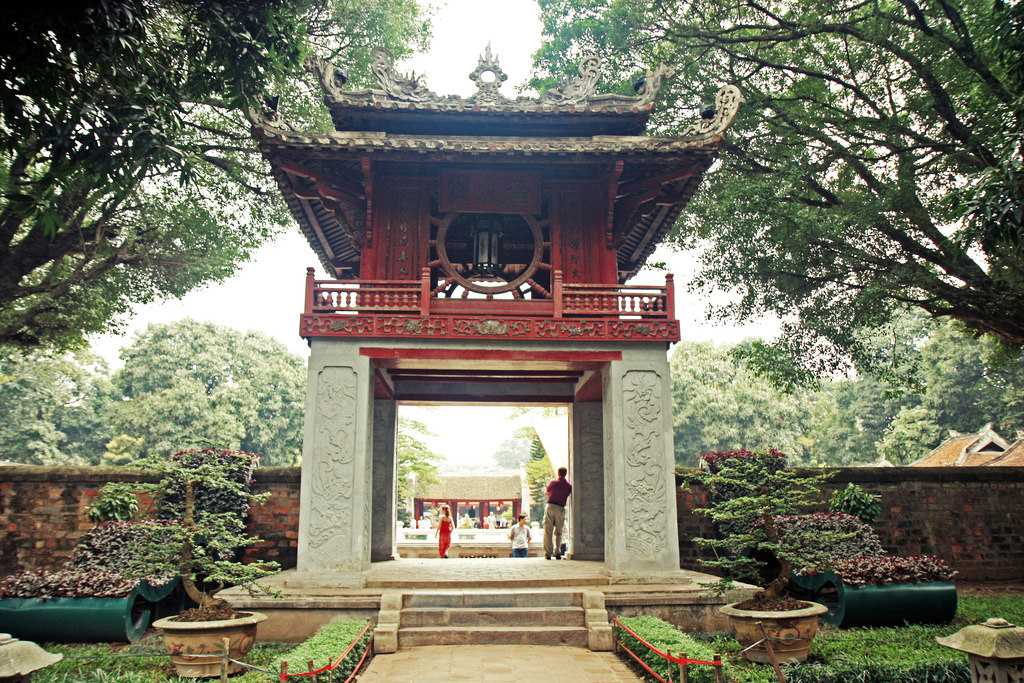
[[[876,530],[900,555],[938,555],[968,581],[1024,580],[1024,468],[858,467],[833,470],[823,495],[857,483],[882,497]],[[699,569],[691,539],[711,531],[692,510],[699,488],[677,496],[679,552],[683,567]],[[823,508],[822,508],[823,509]]]

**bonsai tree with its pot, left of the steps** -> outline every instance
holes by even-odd
[[[219,674],[216,659],[190,655],[221,652],[227,638],[230,656],[241,658],[256,640],[256,625],[265,618],[256,612],[236,612],[214,597],[227,586],[270,593],[257,582],[279,569],[275,562],[238,560],[240,551],[259,542],[246,533],[245,513],[269,496],[249,490],[257,462],[258,456],[252,454],[214,449],[182,451],[144,462],[161,479],[143,487],[157,499],[160,516],[171,520],[173,539],[168,542],[180,549],[173,566],[161,569],[175,571],[197,605],[154,624],[164,633],[179,676]]]

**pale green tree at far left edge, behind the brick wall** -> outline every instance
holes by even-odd
[[[85,351],[0,354],[0,457],[95,463],[110,438],[109,384],[106,367]]]

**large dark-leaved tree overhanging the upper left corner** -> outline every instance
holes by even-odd
[[[8,9],[0,344],[80,346],[132,304],[230,275],[287,219],[244,111],[275,90],[298,123],[325,121],[305,57],[365,78],[372,46],[425,37],[420,17],[414,0]]]

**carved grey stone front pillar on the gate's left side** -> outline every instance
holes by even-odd
[[[369,359],[355,342],[312,341],[302,441],[301,572],[358,574],[370,566],[372,387]]]

